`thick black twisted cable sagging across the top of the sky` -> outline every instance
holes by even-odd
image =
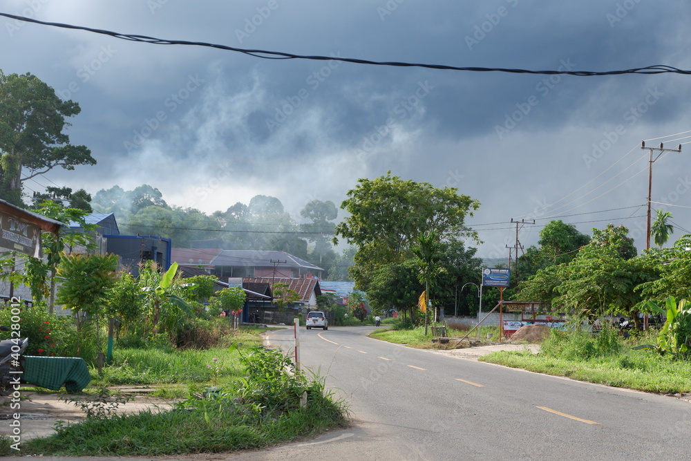
[[[529,70],[520,68],[489,68],[489,67],[458,67],[458,66],[446,66],[444,64],[422,64],[422,63],[410,63],[410,62],[381,62],[381,61],[370,61],[368,59],[357,59],[350,57],[336,57],[336,56],[321,56],[321,55],[295,55],[293,53],[285,53],[283,51],[271,51],[271,50],[253,50],[247,48],[235,48],[227,45],[211,44],[205,41],[187,41],[187,40],[168,40],[160,39],[157,37],[148,37],[146,35],[131,35],[123,34],[121,32],[113,32],[111,30],[95,29],[84,26],[75,26],[73,24],[57,23],[57,22],[47,22],[39,21],[38,19],[32,19],[29,17],[23,17],[18,15],[10,15],[8,13],[0,12],[0,16],[8,17],[10,19],[17,19],[18,21],[26,21],[30,23],[41,24],[43,26],[53,26],[66,29],[74,30],[85,30],[87,32],[93,32],[95,34],[108,35],[116,39],[129,40],[129,41],[140,41],[148,44],[155,45],[188,45],[188,46],[205,46],[208,48],[217,48],[219,50],[235,51],[236,53],[243,53],[245,55],[259,57],[262,59],[311,59],[315,61],[340,61],[340,62],[350,62],[354,64],[368,64],[370,66],[394,66],[394,67],[420,67],[420,68],[430,68],[437,70],[461,70],[466,72],[502,72],[502,73],[524,73],[524,74],[539,74],[539,75],[574,75],[577,77],[594,77],[600,75],[624,75],[624,74],[663,74],[663,73],[676,73],[681,75],[691,75],[691,70],[683,70],[673,66],[665,65],[654,65],[638,68],[630,68],[625,70],[607,70],[603,72],[593,71],[593,70]]]

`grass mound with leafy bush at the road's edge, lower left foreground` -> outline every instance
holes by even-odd
[[[53,455],[167,455],[260,448],[345,426],[347,410],[325,393],[323,379],[308,379],[278,351],[240,352],[244,370],[222,392],[189,397],[171,411],[144,411],[57,427],[49,438],[23,442],[23,453]],[[237,357],[237,355],[236,355]],[[180,366],[180,365],[178,365]],[[179,368],[184,371],[184,368]],[[175,375],[176,373],[171,373]],[[307,405],[300,406],[303,395]],[[107,408],[107,406],[106,406]]]

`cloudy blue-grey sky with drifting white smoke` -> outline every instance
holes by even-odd
[[[2,0],[41,21],[296,55],[484,68],[691,69],[685,0]],[[300,220],[391,171],[482,204],[477,255],[536,245],[549,220],[691,229],[691,75],[531,75],[263,59],[0,17],[0,69],[78,102],[66,133],[97,164],[25,183],[158,188],[207,214],[274,196]],[[681,153],[641,149],[659,147]],[[661,155],[659,155],[661,154]],[[344,211],[339,212],[339,220]],[[534,220],[534,224],[533,224]],[[518,231],[518,232],[517,232]],[[671,243],[671,242],[670,242]],[[519,250],[520,252],[520,250]],[[515,250],[513,252],[515,254]]]

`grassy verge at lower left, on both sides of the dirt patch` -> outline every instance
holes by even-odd
[[[290,357],[256,347],[261,344],[259,331],[244,335],[243,345],[236,348],[116,348],[113,366],[104,368],[102,377],[84,392],[96,402],[91,408],[106,411],[86,413],[86,419],[75,424],[57,424],[57,433],[50,437],[23,440],[21,454],[220,453],[258,449],[348,425],[345,402],[325,390],[323,378],[290,371]],[[218,376],[221,391],[200,398],[205,386],[216,384],[208,366],[218,364],[214,358],[224,359]],[[177,401],[176,408],[111,415],[111,401],[99,400],[95,390],[112,384],[157,385],[153,395]],[[303,395],[306,406],[301,406]],[[0,456],[16,454],[11,443],[0,436]]]

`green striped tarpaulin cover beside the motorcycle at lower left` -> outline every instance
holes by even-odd
[[[59,391],[64,384],[68,392],[79,392],[91,382],[88,366],[81,357],[25,355],[23,367],[23,382],[51,391]]]

